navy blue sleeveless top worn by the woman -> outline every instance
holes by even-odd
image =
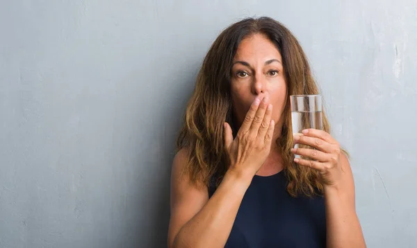
[[[325,248],[323,197],[291,197],[284,171],[255,175],[224,248]],[[208,188],[211,197],[215,180]]]

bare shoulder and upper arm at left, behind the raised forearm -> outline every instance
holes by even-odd
[[[194,217],[208,202],[207,187],[197,187],[183,173],[188,163],[187,150],[182,149],[175,154],[171,170],[170,188],[170,225],[168,244],[174,242],[175,236],[191,218]]]

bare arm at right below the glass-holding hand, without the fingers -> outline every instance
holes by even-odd
[[[327,248],[366,247],[357,217],[350,163],[341,155],[343,177],[336,186],[325,186]]]

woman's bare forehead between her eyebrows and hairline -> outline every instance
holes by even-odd
[[[234,60],[270,60],[272,58],[281,60],[281,53],[275,44],[265,35],[255,34],[240,42]]]

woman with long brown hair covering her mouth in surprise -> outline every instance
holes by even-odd
[[[294,94],[318,87],[279,22],[244,19],[215,40],[172,166],[169,247],[366,247],[350,163],[325,116],[291,135]]]

